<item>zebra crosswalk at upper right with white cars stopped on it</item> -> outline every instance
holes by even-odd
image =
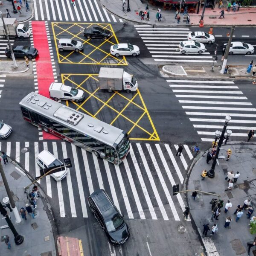
[[[178,47],[181,41],[187,40],[191,31],[182,27],[159,27],[153,28],[150,25],[134,25],[141,39],[151,53],[154,61],[157,62],[212,62],[209,52],[202,54],[189,53],[181,54]]]

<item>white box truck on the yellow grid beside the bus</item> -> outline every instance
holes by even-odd
[[[123,68],[101,67],[99,70],[99,88],[112,92],[125,90],[127,93],[135,92],[138,88],[137,80]]]

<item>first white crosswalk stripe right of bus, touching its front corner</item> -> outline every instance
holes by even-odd
[[[139,167],[139,165],[137,163],[137,159],[136,159],[136,157],[134,155],[134,151],[133,151],[133,148],[132,148],[131,145],[130,145],[130,155],[131,155],[132,162],[134,163],[134,168],[135,168],[135,171],[137,173],[138,179],[140,181],[140,186],[142,188],[143,194],[144,194],[146,202],[148,204],[148,209],[149,209],[149,212],[151,214],[151,217],[152,217],[153,220],[157,220],[157,215],[156,215],[156,213],[154,211],[154,207],[153,207],[153,205],[151,203],[151,199],[150,199],[150,197],[148,195],[147,187],[146,187],[145,182],[143,180],[143,176],[142,176],[142,174],[140,172],[140,167]]]

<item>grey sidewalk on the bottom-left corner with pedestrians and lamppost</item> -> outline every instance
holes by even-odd
[[[10,160],[8,158],[8,160]],[[3,163],[3,160],[2,160]],[[13,198],[15,200],[18,211],[21,207],[25,208],[25,204],[28,202],[26,194],[24,194],[24,187],[29,185],[31,181],[20,169],[18,169],[13,163],[8,163],[6,166],[3,164],[3,170],[6,174],[6,179],[9,183],[10,189],[13,192]],[[42,196],[44,193],[39,188],[39,192]],[[0,200],[2,201],[6,197],[6,189],[3,185],[2,179],[0,179]],[[38,206],[36,208],[37,215],[33,219],[27,215],[27,220],[23,220],[17,224],[13,212],[7,212],[14,224],[17,232],[24,237],[24,241],[20,245],[14,243],[14,236],[10,229],[0,230],[1,243],[0,243],[0,256],[55,256],[55,242],[54,235],[52,233],[51,222],[47,216],[49,209],[43,198],[38,198]],[[3,202],[2,202],[3,204]],[[50,215],[50,214],[49,214]],[[7,225],[5,219],[0,216],[0,226]],[[11,249],[7,249],[2,237],[8,235],[10,237]]]

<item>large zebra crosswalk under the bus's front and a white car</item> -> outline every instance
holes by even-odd
[[[56,182],[47,176],[40,180],[55,214],[63,218],[87,218],[86,198],[96,189],[105,189],[120,212],[130,219],[180,221],[185,203],[180,194],[172,196],[172,186],[183,183],[193,156],[187,145],[183,145],[180,157],[175,156],[177,147],[134,143],[123,163],[116,166],[61,141],[0,143],[0,151],[5,151],[33,177],[39,176],[35,158],[42,150],[52,152],[60,160],[71,158],[73,167],[65,179]]]

